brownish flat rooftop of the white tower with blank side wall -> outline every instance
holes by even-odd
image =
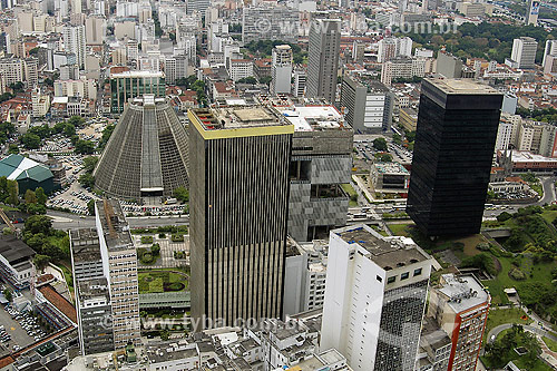
[[[365,248],[371,254],[369,258],[385,271],[430,258],[412,238],[383,237],[367,225],[350,226],[333,232],[349,245],[358,244]]]

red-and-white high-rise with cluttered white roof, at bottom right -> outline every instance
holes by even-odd
[[[428,316],[449,335],[449,370],[476,370],[491,297],[473,275],[443,274],[432,289]]]

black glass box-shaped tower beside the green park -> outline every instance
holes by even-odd
[[[423,80],[407,211],[426,235],[479,233],[501,104],[488,86]]]

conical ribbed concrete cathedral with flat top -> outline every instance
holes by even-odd
[[[95,186],[124,199],[170,196],[188,186],[187,134],[164,98],[128,104],[95,168]]]

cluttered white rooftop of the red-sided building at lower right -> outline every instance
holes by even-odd
[[[489,294],[473,275],[443,274],[438,289],[448,299],[456,313],[470,310],[489,301]]]

